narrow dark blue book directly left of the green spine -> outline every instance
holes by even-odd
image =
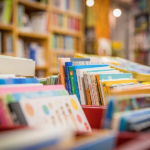
[[[69,66],[72,66],[72,62],[65,62],[68,92],[69,92],[69,95],[72,95],[71,81],[70,81],[70,74],[69,74]]]

